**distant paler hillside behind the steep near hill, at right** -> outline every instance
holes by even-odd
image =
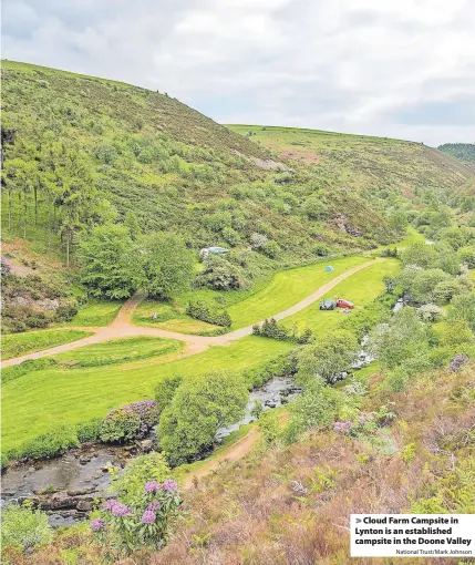
[[[436,194],[444,202],[475,175],[465,164],[421,143],[297,127],[228,127],[281,158],[307,163],[323,186],[339,182],[380,199],[403,195],[424,204]]]

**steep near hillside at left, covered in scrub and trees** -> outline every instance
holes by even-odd
[[[8,238],[64,258],[81,229],[127,212],[142,232],[177,230],[195,249],[260,233],[295,257],[316,239],[358,248],[393,237],[363,202],[352,208],[366,216],[357,222],[366,240],[349,237],[331,210],[323,224],[309,219],[309,178],[164,93],[9,61],[2,79]]]

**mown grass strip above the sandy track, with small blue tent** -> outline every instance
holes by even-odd
[[[235,291],[230,292],[231,297],[227,297],[226,292],[197,290],[179,296],[175,306],[146,300],[137,307],[133,321],[140,326],[153,326],[183,333],[213,333],[219,329],[217,326],[194,320],[184,314],[184,308],[190,299],[205,299],[217,305],[226,304],[228,300],[227,310],[233,319],[231,329],[244,328],[290,308],[334,277],[369,260],[368,257],[352,256],[281,270],[257,291]],[[329,264],[334,267],[334,271],[324,270]],[[156,322],[152,320],[154,311],[157,312]]]

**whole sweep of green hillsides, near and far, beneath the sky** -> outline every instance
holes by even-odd
[[[194,249],[246,248],[252,234],[285,261],[321,244],[369,248],[397,239],[391,215],[411,207],[401,195],[424,204],[471,175],[406,142],[273,127],[249,140],[166,93],[114,81],[10,61],[2,79],[3,236],[63,261],[74,263],[78,233],[127,212],[142,232],[179,232]],[[320,153],[306,160],[309,138]]]

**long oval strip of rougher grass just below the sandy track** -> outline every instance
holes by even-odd
[[[60,364],[71,368],[102,367],[164,356],[179,351],[183,346],[182,341],[172,339],[148,337],[113,339],[61,353],[54,359]]]

